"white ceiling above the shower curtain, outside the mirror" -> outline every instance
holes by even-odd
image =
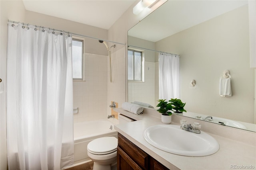
[[[23,0],[26,10],[109,29],[136,0]]]

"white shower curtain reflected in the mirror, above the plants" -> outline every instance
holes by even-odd
[[[159,99],[180,98],[180,57],[159,54]]]

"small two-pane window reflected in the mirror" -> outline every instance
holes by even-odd
[[[128,80],[142,80],[142,53],[128,50]]]

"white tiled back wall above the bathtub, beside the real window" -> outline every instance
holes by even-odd
[[[85,82],[73,81],[74,123],[105,119],[108,106],[108,56],[85,53]]]

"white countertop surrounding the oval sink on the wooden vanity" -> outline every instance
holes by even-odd
[[[122,111],[117,109],[118,112]],[[150,156],[158,160],[164,166],[172,170],[230,170],[239,169],[235,166],[254,166],[256,169],[256,133],[250,133],[252,137],[251,143],[243,143],[239,140],[229,139],[213,133],[208,133],[214,137],[220,149],[215,154],[209,156],[180,156],[171,154],[150,145],[143,137],[144,131],[153,125],[163,124],[161,119],[153,117],[150,114],[135,115],[127,111],[122,111],[123,115],[131,117],[137,121],[115,125],[114,129],[121,133],[124,137],[129,139],[132,143],[137,145],[140,149],[144,150]],[[178,124],[172,122],[172,124]],[[233,131],[230,130],[233,133]],[[237,133],[240,135],[240,133]],[[227,135],[228,136],[228,135]],[[241,137],[241,136],[240,136]],[[238,137],[238,138],[240,138]],[[254,139],[253,139],[254,137]],[[247,140],[247,137],[245,137]],[[185,139],[188,140],[189,139]],[[254,144],[254,145],[250,145]],[[246,169],[242,167],[240,169]],[[250,168],[248,168],[250,169]]]

